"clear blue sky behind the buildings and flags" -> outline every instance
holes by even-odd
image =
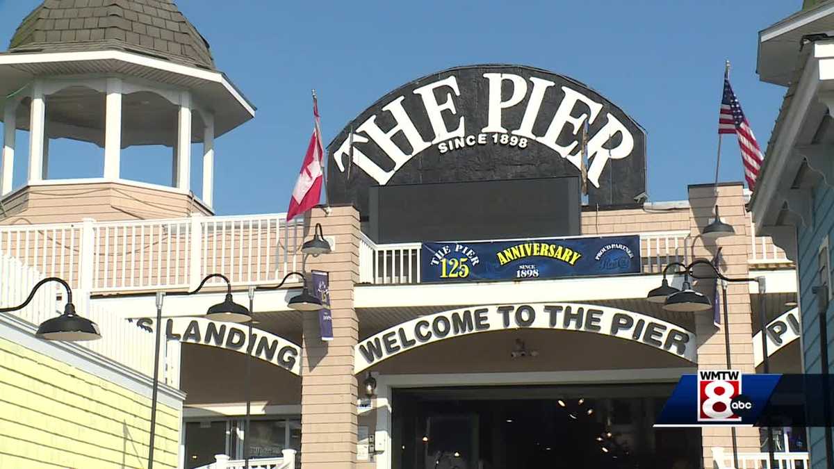
[[[0,0],[6,44],[38,3]],[[310,88],[319,93],[327,145],[391,89],[472,63],[531,65],[595,88],[646,129],[651,200],[686,199],[686,184],[715,177],[727,58],[733,88],[766,146],[785,89],[758,80],[757,33],[801,8],[801,0],[176,3],[258,108],[216,142],[218,214],[286,211],[313,129]],[[721,180],[740,181],[735,136],[724,139]],[[102,155],[92,145],[53,144],[49,177],[100,175]],[[15,185],[25,178],[21,159]],[[136,179],[170,179],[170,149],[123,159]],[[199,168],[193,172],[197,183]]]

